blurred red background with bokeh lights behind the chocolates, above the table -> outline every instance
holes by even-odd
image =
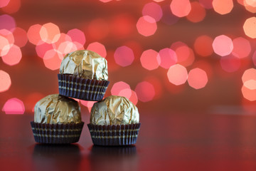
[[[255,0],[1,0],[1,115],[33,115],[80,49],[107,59],[105,96],[143,115],[256,113],[255,13]]]

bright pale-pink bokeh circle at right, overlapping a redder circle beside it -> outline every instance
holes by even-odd
[[[213,51],[219,56],[227,56],[233,51],[233,41],[225,35],[215,37]]]

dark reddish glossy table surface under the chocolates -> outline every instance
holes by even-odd
[[[83,115],[83,120],[88,120]],[[0,170],[256,170],[256,116],[142,113],[135,146],[35,143],[33,114],[0,113]]]

